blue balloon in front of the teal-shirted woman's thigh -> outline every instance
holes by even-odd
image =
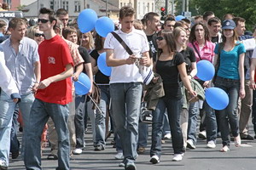
[[[207,88],[206,90],[207,104],[215,110],[224,110],[230,103],[228,94],[221,88]]]

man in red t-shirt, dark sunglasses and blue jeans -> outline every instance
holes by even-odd
[[[72,101],[73,59],[67,43],[55,34],[54,11],[41,8],[38,26],[45,40],[38,47],[41,62],[41,79],[36,99],[29,116],[25,148],[26,169],[41,169],[41,133],[49,117],[55,122],[58,133],[58,167],[69,169],[70,145],[67,128],[68,103]],[[49,50],[49,47],[52,50]]]

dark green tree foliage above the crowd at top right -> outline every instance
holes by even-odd
[[[192,15],[193,8],[199,8],[199,14],[205,11],[212,11],[219,19],[223,19],[224,14],[230,13],[247,20],[246,26],[250,30],[256,24],[256,3],[249,0],[189,0],[189,8]]]

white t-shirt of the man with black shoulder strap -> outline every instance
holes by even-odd
[[[135,55],[143,54],[149,51],[148,40],[143,31],[132,29],[130,33],[121,30],[115,31],[119,37],[127,44]],[[129,54],[120,42],[113,37],[112,33],[108,33],[104,42],[104,48],[113,49],[113,59],[128,59]],[[120,65],[112,67],[110,82],[143,82],[143,77],[139,73],[137,65]]]

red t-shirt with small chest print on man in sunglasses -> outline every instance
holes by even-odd
[[[58,35],[41,42],[38,46],[38,54],[41,62],[41,81],[65,71],[66,65],[73,65],[67,43]],[[38,89],[36,98],[59,105],[70,103],[72,101],[71,77],[52,82],[47,88]]]

